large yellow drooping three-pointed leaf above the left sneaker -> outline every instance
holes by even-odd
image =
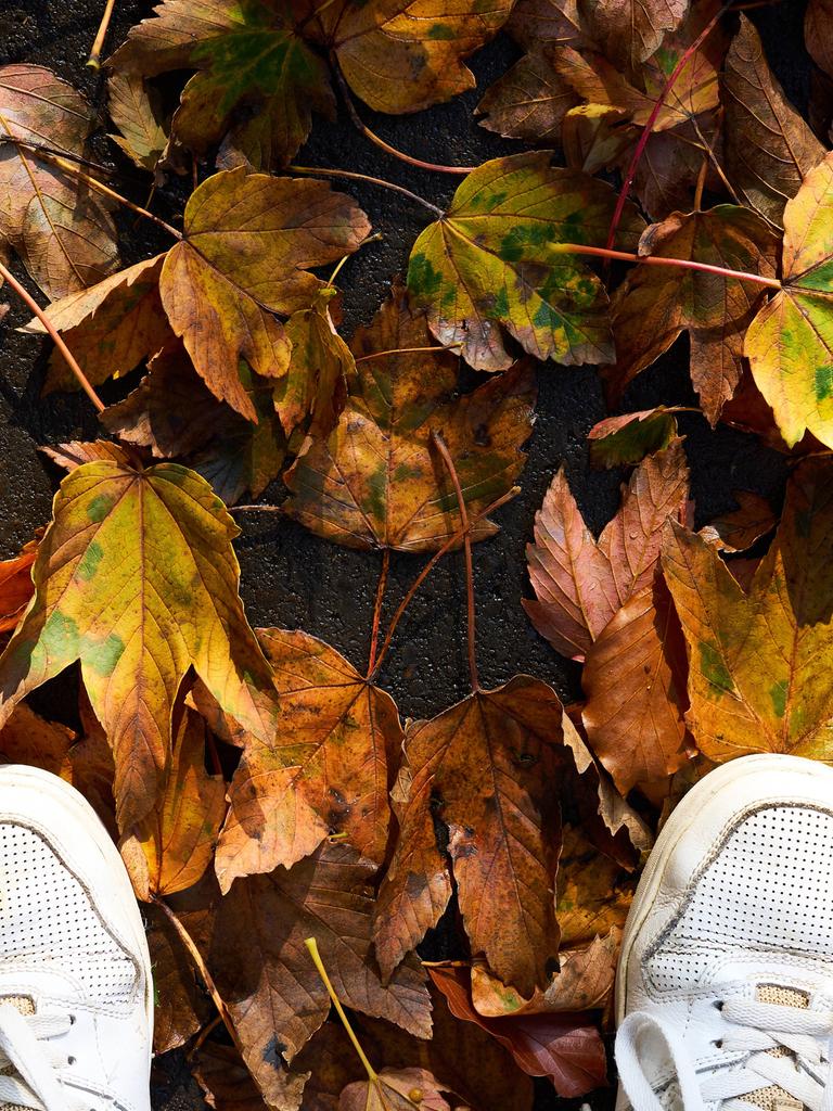
[[[34,598],[0,657],[0,722],[80,661],[113,749],[122,829],[153,805],[190,667],[252,732],[272,734],[271,671],[238,595],[237,532],[208,483],[173,463],[97,459],[56,496]]]

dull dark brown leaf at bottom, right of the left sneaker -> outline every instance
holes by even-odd
[[[323,845],[290,871],[238,880],[208,908],[177,912],[211,970],[269,1103],[285,1085],[281,1054],[290,1063],[330,1010],[304,938],[318,940],[345,1007],[430,1037],[430,1001],[418,962],[403,964],[383,987],[371,955],[374,873],[349,845]]]

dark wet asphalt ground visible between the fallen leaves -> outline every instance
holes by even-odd
[[[84,68],[87,53],[100,19],[103,0],[0,0],[0,63],[31,61],[49,66],[82,89],[93,103],[104,102],[100,74]],[[108,40],[109,49],[121,42],[128,28],[150,12],[144,0],[117,0]],[[795,0],[753,11],[767,53],[787,92],[799,107],[806,102],[810,63],[802,38],[803,4]],[[109,52],[109,51],[108,51]],[[485,88],[518,57],[503,37],[472,61],[478,90],[415,117],[374,117],[364,110],[371,128],[395,147],[434,162],[475,164],[488,158],[512,153],[520,144],[503,141],[476,126],[472,110]],[[122,171],[123,192],[143,201],[148,183],[118,158],[113,146],[100,140],[97,157],[112,161]],[[307,166],[339,167],[389,178],[408,186],[435,203],[446,202],[455,179],[411,169],[358,134],[345,118],[331,124],[318,120],[313,137],[298,157]],[[384,236],[347,263],[340,283],[345,294],[345,326],[370,320],[384,299],[392,278],[407,263],[411,244],[424,226],[423,211],[387,190],[344,182]],[[173,188],[162,191],[159,212],[181,212],[181,198]],[[132,216],[119,216],[126,262],[163,249],[167,241],[137,228]],[[16,271],[22,277],[22,271]],[[49,518],[59,473],[38,451],[43,444],[66,439],[93,438],[97,423],[80,396],[57,394],[40,399],[47,344],[20,336],[16,328],[29,313],[17,304],[0,324],[0,558],[13,554],[33,529]],[[521,608],[530,595],[524,546],[553,472],[565,462],[570,481],[588,522],[600,530],[614,512],[623,476],[590,469],[586,432],[606,416],[600,381],[593,368],[541,367],[540,401],[529,462],[521,477],[523,492],[499,513],[502,531],[475,548],[478,658],[481,681],[498,685],[524,671],[553,684],[570,700],[579,694],[578,668],[558,657],[532,629]],[[130,383],[128,383],[130,384]],[[126,390],[111,391],[116,399]],[[693,404],[688,378],[688,344],[681,340],[629,389],[623,411],[665,404]],[[702,419],[681,418],[692,470],[692,490],[697,521],[702,523],[732,508],[731,491],[755,490],[780,504],[784,467],[773,452],[746,434],[720,427],[711,431]],[[279,497],[279,488],[264,500]],[[242,593],[255,625],[302,628],[342,651],[354,664],[367,661],[373,598],[380,560],[338,548],[309,534],[300,526],[269,514],[249,514],[241,520],[243,533],[237,542],[242,565]],[[421,561],[398,556],[393,560],[385,612],[397,602],[416,573]],[[403,717],[429,717],[468,693],[465,663],[465,589],[462,562],[446,558],[429,580],[400,627],[393,650],[381,675],[397,699]],[[60,692],[53,695],[60,699]],[[44,707],[40,702],[41,709]],[[154,1109],[183,1111],[202,1107],[194,1088],[188,1088],[182,1062],[175,1054],[157,1069]],[[608,1097],[592,1100],[606,1107]],[[561,1105],[548,1085],[541,1084],[538,1111]]]

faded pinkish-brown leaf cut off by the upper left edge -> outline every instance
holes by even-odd
[[[84,98],[50,70],[0,66],[0,242],[52,300],[118,266],[116,226],[99,194],[27,144],[79,157],[92,128]]]

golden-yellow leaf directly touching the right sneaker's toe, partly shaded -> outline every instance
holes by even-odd
[[[689,727],[714,761],[747,752],[833,759],[833,469],[802,463],[745,592],[702,537],[669,527],[663,571],[689,644]]]

